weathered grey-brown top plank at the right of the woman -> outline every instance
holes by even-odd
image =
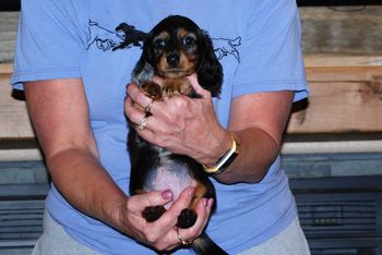
[[[315,7],[299,11],[306,54],[381,56],[381,7]]]

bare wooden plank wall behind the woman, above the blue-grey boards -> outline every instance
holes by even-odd
[[[286,141],[303,143],[294,150],[302,153],[322,141],[345,141],[333,144],[335,151],[348,151],[349,143],[382,151],[382,7],[300,8],[300,15],[311,95],[296,105]],[[17,17],[0,12],[0,158],[3,141],[34,139],[25,104],[14,100],[8,86]],[[284,148],[291,151],[297,144]]]

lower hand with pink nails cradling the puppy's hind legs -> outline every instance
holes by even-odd
[[[156,221],[147,222],[142,217],[146,206],[166,205],[172,201],[170,191],[151,192],[133,195],[120,210],[118,229],[139,242],[148,244],[158,251],[170,251],[180,245],[178,234],[182,240],[196,239],[205,228],[212,209],[212,199],[202,198],[195,206],[196,222],[189,229],[175,227],[183,208],[187,208],[194,196],[194,187],[187,187],[170,208]]]

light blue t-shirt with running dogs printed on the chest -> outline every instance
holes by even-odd
[[[127,194],[126,85],[141,54],[141,33],[169,14],[192,19],[213,39],[225,74],[222,96],[214,100],[222,125],[228,123],[235,97],[295,90],[299,100],[308,94],[294,0],[23,1],[12,85],[22,88],[26,81],[81,77],[102,163]],[[120,49],[123,42],[127,47]],[[206,231],[229,254],[276,235],[297,215],[279,157],[260,183],[213,181],[217,210]],[[154,254],[72,208],[55,186],[46,206],[72,238],[103,254]]]

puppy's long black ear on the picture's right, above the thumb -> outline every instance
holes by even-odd
[[[208,34],[199,32],[200,64],[198,70],[199,84],[211,92],[213,97],[218,97],[223,85],[223,68],[217,60],[213,42]]]

